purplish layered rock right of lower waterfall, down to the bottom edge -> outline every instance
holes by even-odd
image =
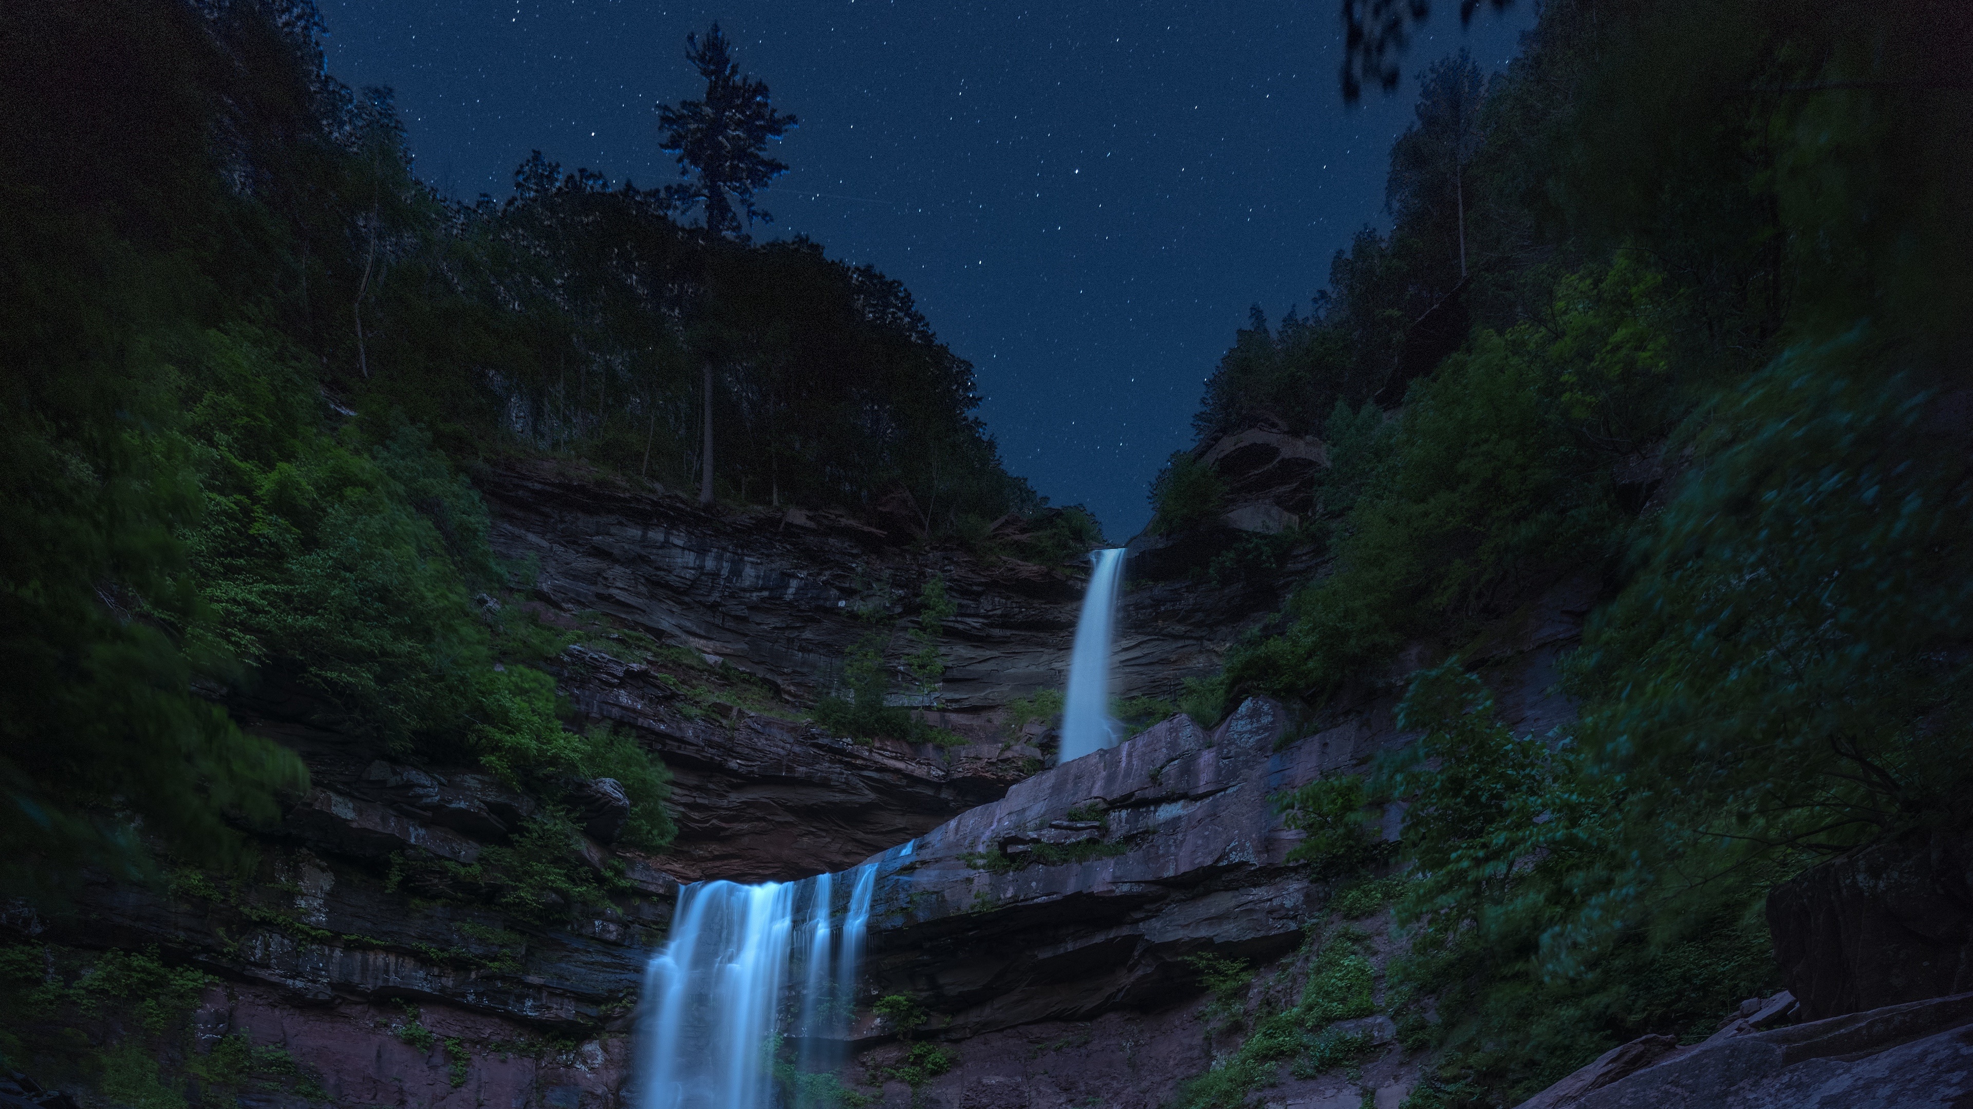
[[[1571,716],[1553,689],[1555,659],[1580,635],[1592,598],[1594,582],[1561,582],[1478,651],[1517,730]],[[1409,665],[1423,657],[1423,647],[1407,653]],[[1211,1070],[1239,1036],[1213,1030],[1186,959],[1247,959],[1261,967],[1257,983],[1306,973],[1306,927],[1332,890],[1286,862],[1300,833],[1282,827],[1271,797],[1361,774],[1407,742],[1393,722],[1399,687],[1346,693],[1312,722],[1265,699],[1209,732],[1176,716],[884,852],[868,991],[921,998],[935,1012],[921,1036],[957,1060],[915,1093],[892,1083],[886,1105],[1152,1109]],[[1385,835],[1399,817],[1387,813]],[[1389,920],[1353,927],[1381,967],[1395,943]],[[1379,1004],[1381,991],[1379,979]],[[888,1032],[868,1028],[860,1073],[882,1073],[902,1052]],[[1389,1016],[1344,1032],[1373,1044],[1355,1077],[1282,1068],[1269,1103],[1355,1109],[1369,1095],[1395,1109],[1419,1060],[1395,1046]]]

